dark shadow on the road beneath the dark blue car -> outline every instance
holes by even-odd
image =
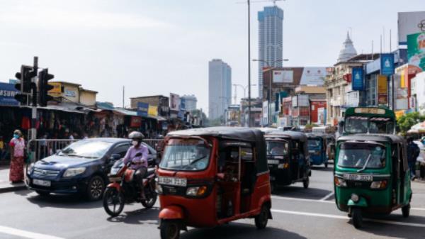
[[[61,209],[94,209],[101,208],[102,201],[88,201],[84,196],[52,194],[49,196],[30,195],[27,197],[32,204],[40,208],[61,208]]]

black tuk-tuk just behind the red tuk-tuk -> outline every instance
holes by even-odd
[[[266,132],[265,138],[271,191],[295,182],[307,189],[312,172],[305,133],[273,130]]]

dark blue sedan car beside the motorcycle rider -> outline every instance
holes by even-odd
[[[131,141],[122,138],[80,140],[30,165],[26,184],[40,195],[80,193],[90,200],[101,199],[112,165],[130,146]],[[146,146],[149,166],[153,166],[157,151]]]

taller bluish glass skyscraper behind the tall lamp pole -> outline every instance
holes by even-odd
[[[270,67],[282,67],[283,57],[283,10],[278,6],[266,6],[259,11],[259,60]],[[263,98],[263,67],[259,61],[259,97]]]

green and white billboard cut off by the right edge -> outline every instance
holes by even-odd
[[[407,59],[414,70],[425,70],[425,33],[407,36]]]

